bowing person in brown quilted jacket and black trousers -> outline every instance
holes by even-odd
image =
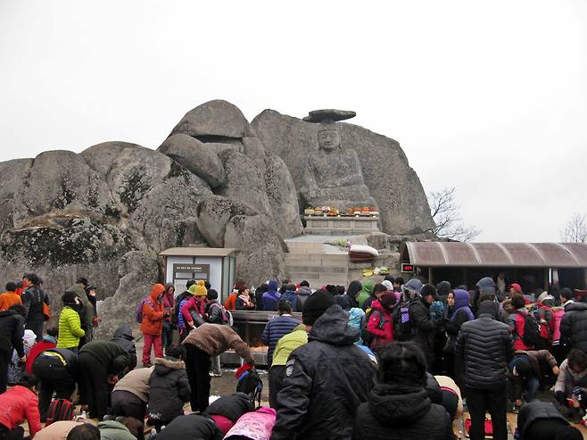
[[[186,336],[183,345],[186,347],[186,372],[192,390],[192,411],[208,408],[211,357],[232,349],[249,365],[255,364],[249,346],[228,326],[204,323]]]

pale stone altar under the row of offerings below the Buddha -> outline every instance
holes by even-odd
[[[379,217],[328,217],[306,215],[304,234],[321,236],[355,236],[379,232]]]

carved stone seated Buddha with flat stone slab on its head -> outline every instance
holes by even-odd
[[[310,153],[301,194],[306,205],[331,206],[341,211],[356,206],[377,206],[363,180],[359,156],[343,149],[336,120],[352,118],[354,112],[319,110],[303,120],[320,124],[318,147]]]

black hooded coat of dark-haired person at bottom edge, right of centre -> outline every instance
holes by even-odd
[[[356,440],[452,440],[452,423],[421,386],[376,385],[361,403],[352,434]]]

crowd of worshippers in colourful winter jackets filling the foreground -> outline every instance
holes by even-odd
[[[93,340],[99,318],[86,278],[62,294],[59,325],[44,334],[51,311],[42,284],[27,274],[0,295],[0,439],[23,438],[25,420],[41,440],[143,440],[145,423],[162,440],[452,439],[464,404],[473,440],[490,428],[507,439],[508,411],[518,412],[518,438],[582,438],[569,420],[587,419],[587,303],[568,289],[533,301],[519,284],[489,277],[470,290],[391,276],[318,289],[239,281],[220,303],[203,280],[178,295],[154,284],[135,311],[144,341],[137,368],[128,325]],[[210,403],[221,353],[234,350],[243,376],[254,377],[235,310],[277,312],[261,335],[269,407],[256,408],[246,392]],[[80,417],[63,417],[74,404]]]

